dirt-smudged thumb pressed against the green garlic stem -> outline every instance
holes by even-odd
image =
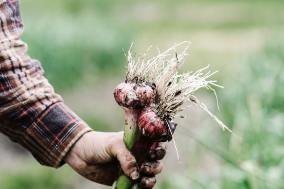
[[[131,180],[137,180],[140,176],[138,163],[132,153],[126,147],[123,139],[116,139],[111,143],[110,153],[119,161],[125,176]]]

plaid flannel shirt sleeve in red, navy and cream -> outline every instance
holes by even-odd
[[[0,132],[46,166],[59,167],[89,126],[55,94],[20,40],[19,0],[0,0]]]

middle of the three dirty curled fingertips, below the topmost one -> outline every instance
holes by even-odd
[[[152,161],[142,163],[140,166],[141,174],[156,175],[159,174],[163,169],[163,164],[160,161]]]

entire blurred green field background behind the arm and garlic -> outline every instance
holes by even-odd
[[[113,100],[124,81],[122,48],[143,53],[193,42],[184,70],[210,63],[225,89],[198,97],[240,140],[204,113],[181,120],[176,154],[163,160],[157,189],[284,188],[283,0],[49,0],[21,1],[29,55],[65,103],[98,131],[119,131],[124,112]],[[195,111],[195,110],[194,110]],[[196,115],[196,116],[195,116]],[[191,125],[188,127],[187,125]],[[11,157],[13,158],[13,157]],[[30,156],[13,169],[0,163],[0,189],[107,189],[68,166],[46,168]],[[1,165],[3,164],[3,165]],[[8,166],[9,167],[9,166]]]

